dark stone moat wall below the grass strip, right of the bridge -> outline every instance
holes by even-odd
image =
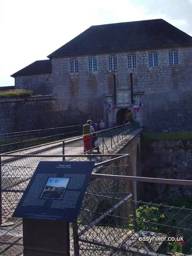
[[[141,140],[141,154],[142,164],[137,168],[137,176],[191,180],[192,140],[148,143]],[[137,182],[137,192],[138,200],[164,202],[165,205],[175,198],[192,197],[192,187],[186,185]]]

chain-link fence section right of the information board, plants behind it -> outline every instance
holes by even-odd
[[[124,175],[127,166],[110,168]],[[192,209],[134,201],[131,192],[128,179],[90,182],[72,225],[73,255],[191,254]]]

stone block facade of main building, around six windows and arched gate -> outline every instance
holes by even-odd
[[[169,51],[172,50],[178,51],[179,65],[169,66]],[[157,67],[149,67],[150,52],[158,54]],[[130,54],[136,55],[137,68],[127,69],[127,55]],[[109,71],[110,56],[117,57],[117,70]],[[116,121],[118,110],[127,108],[133,112],[133,119],[140,121],[148,131],[191,130],[191,57],[192,46],[53,57],[53,95],[58,99],[60,111],[78,118],[80,122],[87,118],[102,118],[110,126]],[[89,58],[97,59],[96,72],[88,72]],[[79,61],[79,72],[70,74],[70,60],[74,59]],[[146,106],[139,111],[134,111],[131,103],[130,73],[134,103],[142,102]],[[113,74],[116,79],[116,108],[107,112],[106,105],[114,105]]]

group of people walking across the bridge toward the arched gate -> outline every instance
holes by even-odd
[[[97,121],[92,122],[91,120],[87,120],[87,123],[83,125],[84,154],[91,154],[93,149],[99,153],[99,141],[96,132],[102,130],[105,130],[105,123],[102,119],[100,120],[100,124]]]

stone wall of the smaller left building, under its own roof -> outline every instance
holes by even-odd
[[[15,77],[15,89],[31,90],[35,95],[52,94],[52,74]]]

